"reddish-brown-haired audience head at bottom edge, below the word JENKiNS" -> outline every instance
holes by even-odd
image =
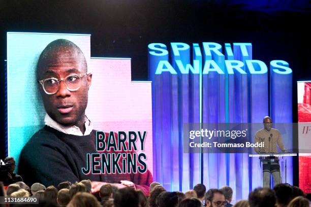
[[[87,192],[78,192],[67,205],[68,207],[100,207],[96,197]]]

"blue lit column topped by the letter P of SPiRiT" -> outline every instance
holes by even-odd
[[[185,43],[171,43],[171,60],[172,66],[175,71],[180,71],[178,73],[177,87],[173,85],[172,90],[178,92],[177,99],[173,95],[173,136],[172,136],[172,152],[173,152],[173,189],[186,191],[189,190],[190,185],[190,154],[180,153],[183,151],[183,124],[190,122],[190,107],[189,107],[189,71],[186,71],[187,65],[190,66],[190,46]],[[191,73],[191,72],[190,72]],[[174,79],[172,79],[174,81]],[[174,93],[174,92],[173,92]],[[176,105],[174,105],[176,103]],[[176,122],[175,122],[176,121]],[[178,130],[175,129],[175,124],[178,124]],[[178,136],[177,136],[178,135]],[[177,145],[179,143],[179,145]],[[179,160],[179,163],[175,160]],[[178,182],[179,181],[179,182]],[[179,184],[179,185],[178,185]]]

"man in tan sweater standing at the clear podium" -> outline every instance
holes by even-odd
[[[264,117],[264,128],[260,129],[255,134],[255,143],[264,142],[264,147],[255,148],[257,153],[276,153],[276,144],[283,152],[287,152],[282,142],[282,136],[279,130],[272,128],[271,117]],[[270,187],[270,174],[272,174],[274,186],[281,182],[281,175],[279,171],[278,159],[273,161],[264,161],[262,163],[263,169],[263,187]]]

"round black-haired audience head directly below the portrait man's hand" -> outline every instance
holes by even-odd
[[[114,207],[138,207],[137,192],[130,187],[119,189],[114,195]]]

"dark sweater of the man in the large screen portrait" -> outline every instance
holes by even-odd
[[[95,130],[89,135],[78,136],[45,126],[35,133],[22,149],[18,172],[29,186],[36,182],[45,186],[57,186],[64,181],[74,183],[89,179],[107,183],[128,180],[135,183],[138,188],[149,188],[152,182],[149,170],[144,174],[84,175],[81,168],[87,167],[87,153],[99,153],[96,151]],[[122,169],[121,163],[120,167]]]

